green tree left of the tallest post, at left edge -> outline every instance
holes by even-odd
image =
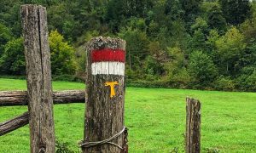
[[[25,75],[26,61],[24,56],[23,39],[17,38],[7,42],[0,58],[2,74]]]

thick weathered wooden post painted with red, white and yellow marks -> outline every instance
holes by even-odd
[[[127,152],[125,41],[93,38],[87,58],[83,152]]]

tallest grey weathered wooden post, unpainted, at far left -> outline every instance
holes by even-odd
[[[46,9],[20,7],[26,56],[26,84],[31,152],[55,152],[50,53]]]

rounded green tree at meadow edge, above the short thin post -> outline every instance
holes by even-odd
[[[195,79],[195,87],[209,87],[217,77],[218,71],[212,59],[201,51],[195,51],[189,56],[189,74]]]

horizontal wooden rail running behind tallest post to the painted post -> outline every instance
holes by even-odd
[[[53,93],[54,104],[84,103],[85,91],[66,90]],[[0,106],[27,105],[26,91],[1,91]]]

